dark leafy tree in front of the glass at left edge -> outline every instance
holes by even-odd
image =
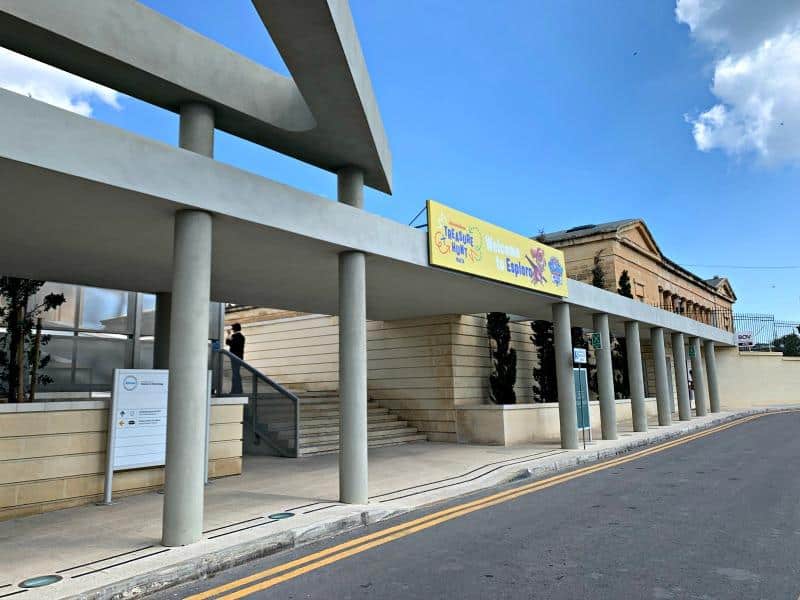
[[[41,355],[50,336],[40,336],[36,342],[34,329],[37,319],[46,311],[64,304],[64,294],[47,294],[41,303],[30,306],[30,298],[44,285],[37,279],[0,277],[0,324],[6,331],[0,334],[0,391],[8,394],[9,402],[25,400],[25,379],[35,373],[34,382],[52,383],[52,378],[42,374],[50,362],[49,355]],[[38,354],[38,356],[37,356]]]

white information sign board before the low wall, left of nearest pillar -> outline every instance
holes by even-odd
[[[163,466],[169,371],[117,369],[112,392],[113,469]]]

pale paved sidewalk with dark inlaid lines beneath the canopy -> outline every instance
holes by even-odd
[[[244,474],[206,488],[205,539],[160,545],[162,496],[122,498],[0,523],[0,599],[126,597],[217,572],[245,560],[317,541],[441,500],[516,478],[539,477],[707,428],[752,412],[723,412],[647,433],[620,427],[620,439],[586,450],[537,444],[512,448],[416,443],[370,450],[370,503],[336,502],[336,455],[301,459],[248,457]],[[286,513],[289,513],[288,515]],[[56,574],[51,586],[25,591],[26,578]]]

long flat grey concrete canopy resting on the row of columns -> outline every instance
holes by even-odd
[[[215,215],[212,299],[338,312],[337,255],[367,258],[367,314],[505,311],[550,319],[557,298],[430,267],[424,232],[109,125],[0,91],[0,273],[139,291],[171,286],[172,215]],[[733,335],[569,282],[595,312],[732,344]],[[642,331],[647,338],[647,328]]]

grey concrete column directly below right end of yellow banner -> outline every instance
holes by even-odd
[[[578,407],[575,404],[575,378],[572,374],[572,325],[569,304],[553,304],[553,345],[556,354],[558,420],[561,447],[578,447]]]

